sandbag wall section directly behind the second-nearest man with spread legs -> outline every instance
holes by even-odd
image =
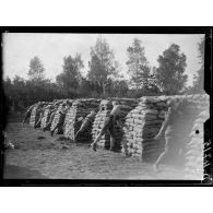
[[[102,128],[104,127],[104,122],[105,122],[106,117],[110,114],[110,110],[113,109],[111,100],[117,100],[118,104],[121,105],[121,115],[120,115],[121,122],[125,122],[125,117],[127,116],[127,114],[132,108],[134,108],[139,103],[139,100],[134,99],[134,98],[110,98],[110,100],[103,99],[100,102],[99,108],[104,108],[104,109],[96,115],[95,121],[93,123],[93,130],[92,130],[93,141],[95,140],[97,134],[100,132]],[[116,146],[114,149],[115,149],[115,151],[120,151],[123,132],[119,127],[116,126],[115,133],[116,133],[116,138],[115,138],[116,139]],[[108,132],[100,138],[97,145],[99,147],[104,147],[106,150],[109,149],[110,135]]]

